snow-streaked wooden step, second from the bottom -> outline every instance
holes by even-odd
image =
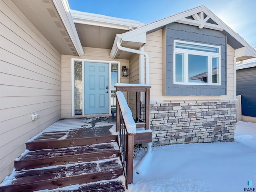
[[[119,158],[95,162],[50,166],[17,171],[10,185],[1,186],[0,192],[32,192],[56,189],[75,184],[110,180],[122,175]]]

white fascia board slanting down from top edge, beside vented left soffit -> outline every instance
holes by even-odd
[[[78,55],[84,56],[84,50],[82,48],[80,39],[78,37],[76,27],[74,24],[74,21],[72,19],[70,8],[68,6],[67,0],[53,0],[53,3],[58,11],[58,14],[60,15],[60,18],[68,32],[68,35],[70,36],[70,39],[72,43],[74,44],[74,47],[78,53]]]

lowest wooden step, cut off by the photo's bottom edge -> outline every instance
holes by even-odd
[[[123,176],[121,176],[123,177]],[[124,192],[126,191],[124,185],[124,179],[106,180],[100,182],[94,182],[84,185],[74,185],[56,190],[49,190],[48,192]]]

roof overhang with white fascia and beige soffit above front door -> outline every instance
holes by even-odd
[[[116,34],[122,34],[143,24],[128,19],[71,10],[82,46],[111,49]],[[137,41],[140,41],[137,39]],[[138,42],[136,42],[138,44]],[[127,54],[127,53],[126,53]]]

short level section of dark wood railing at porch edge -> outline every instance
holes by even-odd
[[[115,84],[116,91],[127,93],[127,103],[132,112],[137,128],[149,129],[150,121],[150,85]],[[118,116],[118,113],[116,113]],[[116,126],[118,131],[118,126]]]

